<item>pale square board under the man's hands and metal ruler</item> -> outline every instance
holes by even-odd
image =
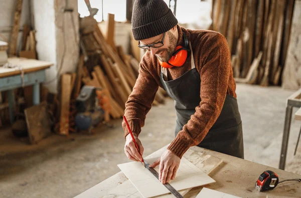
[[[157,159],[158,157],[154,157],[146,160],[149,164],[152,164]],[[169,190],[141,162],[122,163],[118,164],[118,167],[139,190],[142,196],[152,197],[169,193]],[[159,166],[155,167],[155,170],[158,172]],[[169,183],[179,191],[213,182],[215,182],[214,179],[192,164],[188,159],[182,157],[176,178],[170,180]]]

